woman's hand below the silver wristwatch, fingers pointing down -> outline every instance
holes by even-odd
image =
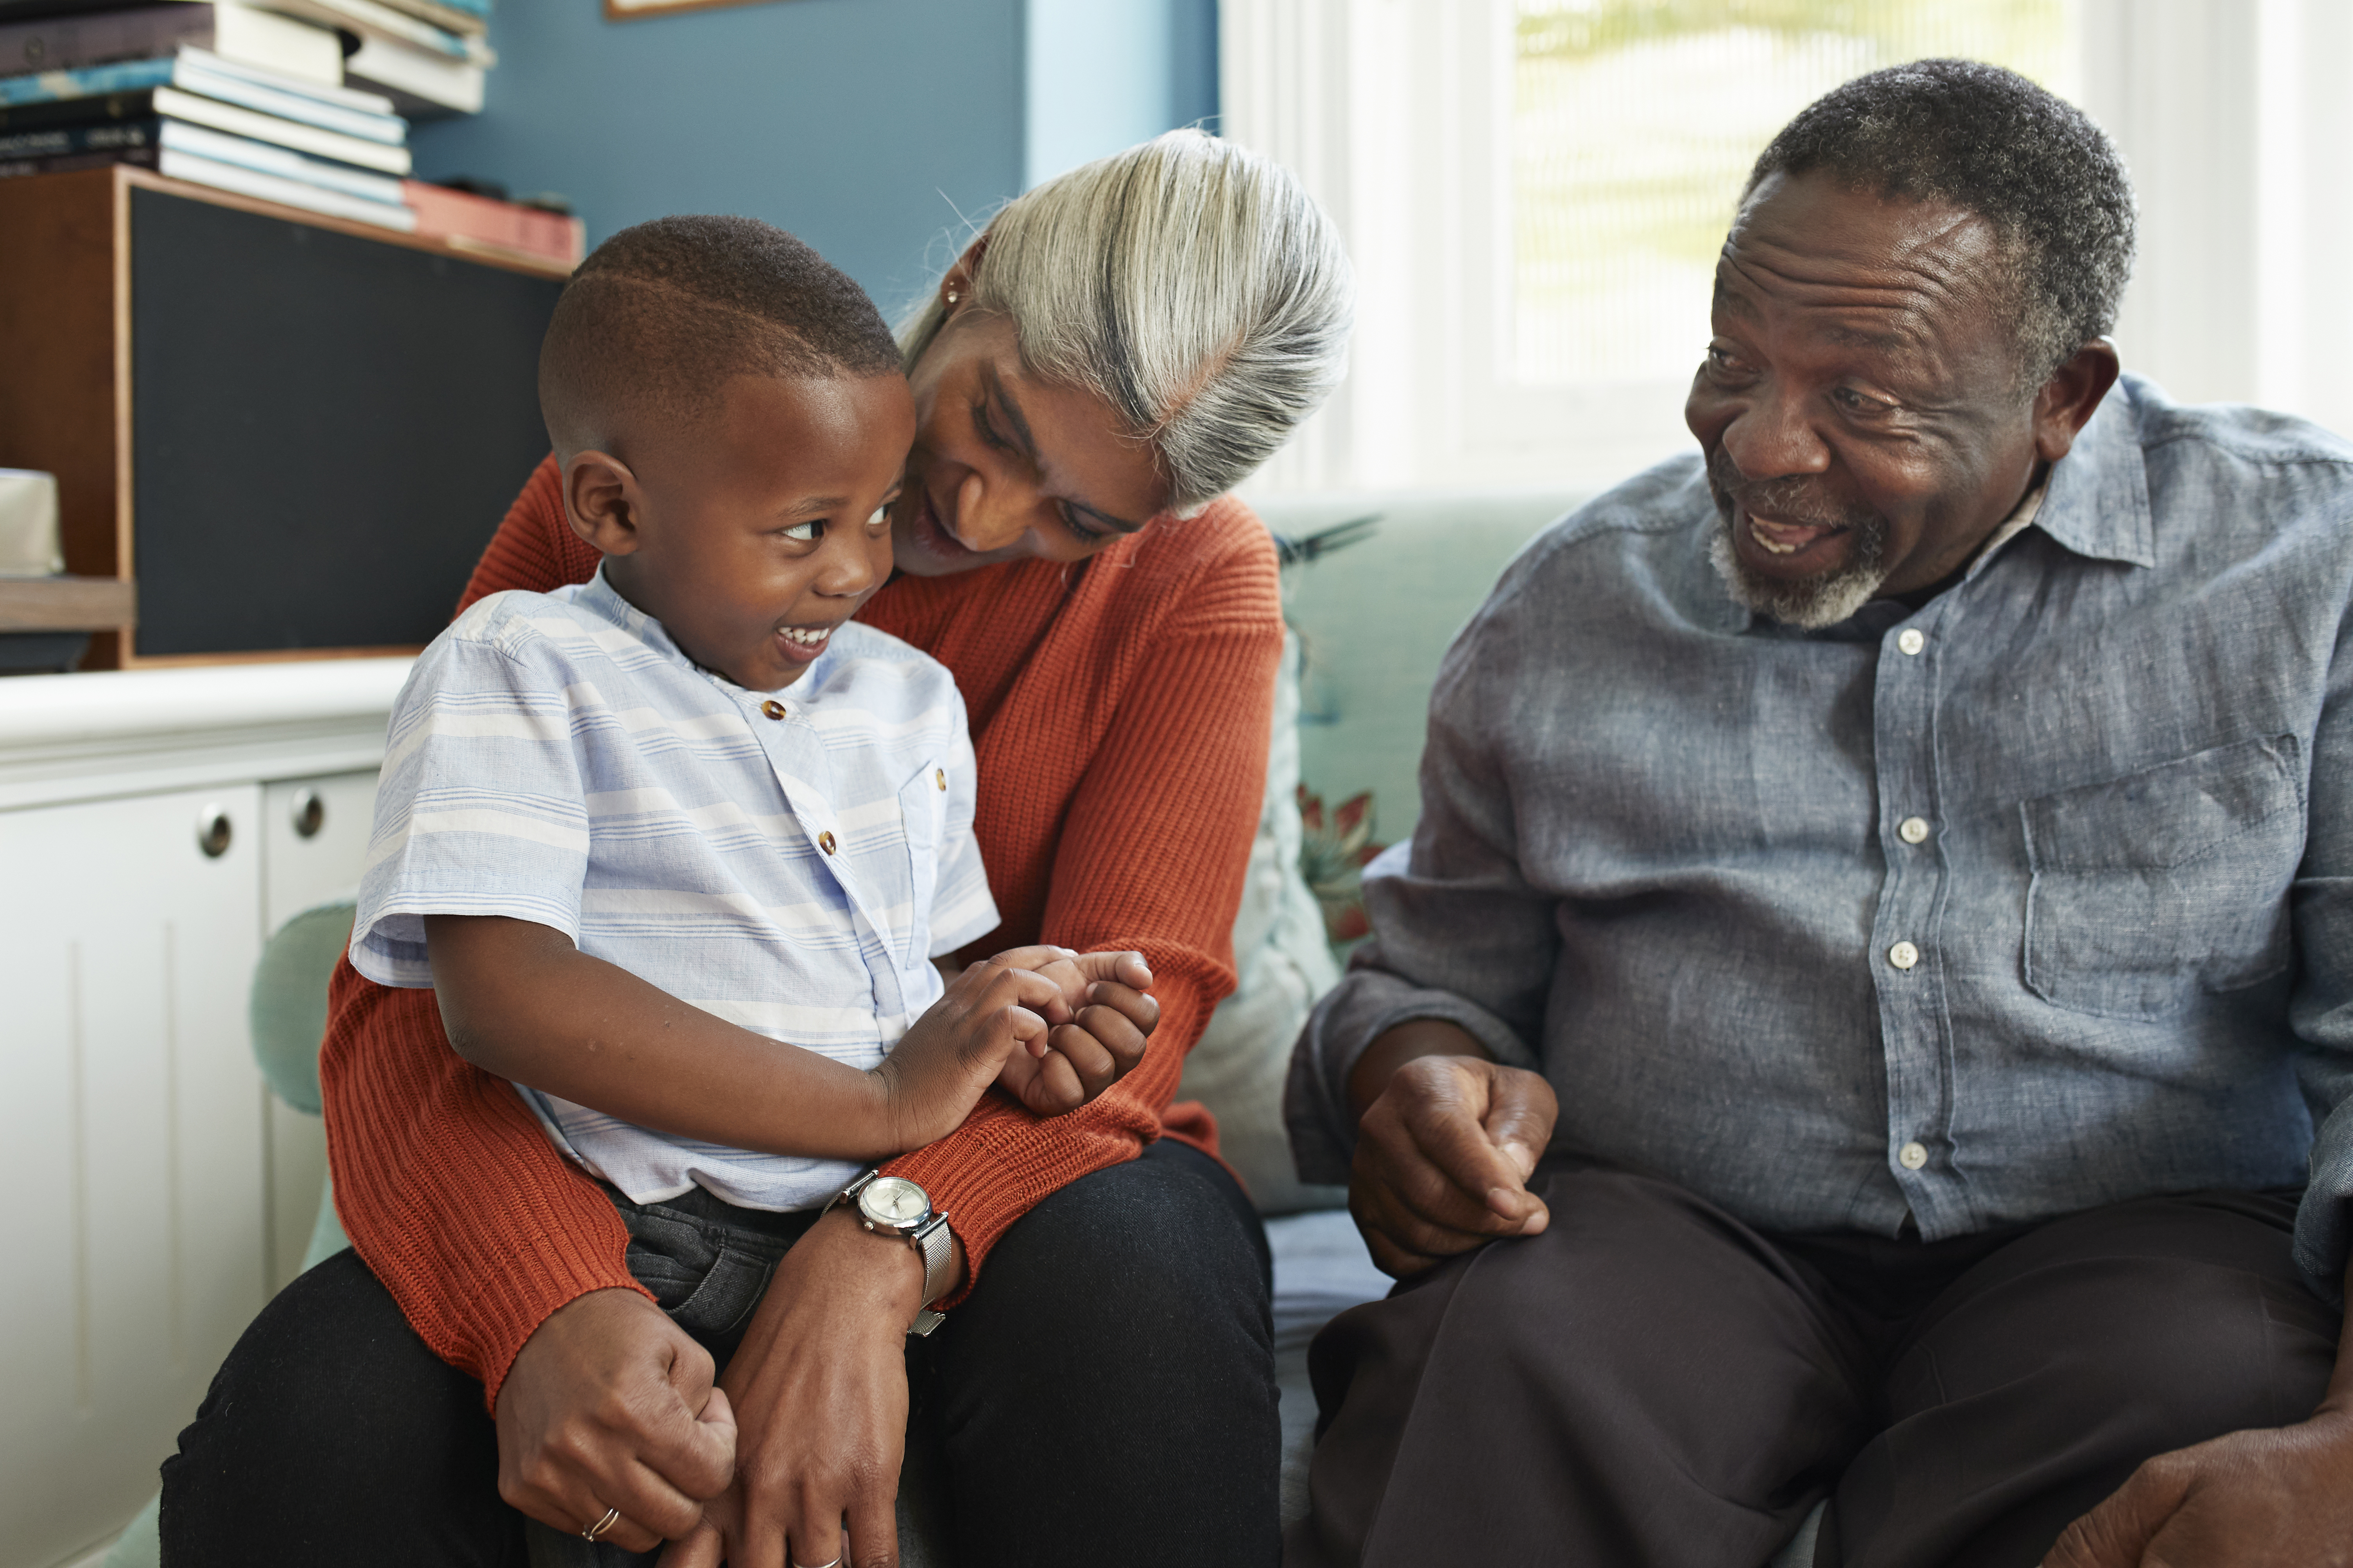
[[[906,1241],[859,1229],[847,1208],[809,1227],[727,1363],[734,1486],[661,1568],[899,1561],[906,1326],[920,1305],[922,1260]]]

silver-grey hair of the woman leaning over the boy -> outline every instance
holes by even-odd
[[[1240,484],[1348,369],[1353,275],[1287,169],[1167,132],[1045,181],[991,219],[967,308],[1012,320],[1024,371],[1099,395],[1151,442],[1169,505]],[[901,327],[908,369],[946,322]]]

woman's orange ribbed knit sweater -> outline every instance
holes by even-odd
[[[466,604],[595,571],[565,527],[558,480],[553,458],[532,473]],[[939,658],[965,693],[974,832],[1005,924],[962,957],[1134,947],[1160,999],[1144,1063],[1092,1105],[1038,1119],[991,1093],[962,1128],[887,1166],[951,1215],[976,1279],[995,1239],[1066,1182],[1162,1133],[1214,1152],[1207,1112],[1169,1100],[1233,990],[1233,914],[1282,654],[1275,552],[1228,498],[1155,520],[1078,569],[901,576],[861,618]],[[482,1380],[492,1408],[548,1314],[588,1291],[638,1288],[612,1204],[504,1079],[449,1048],[431,990],[374,985],[346,959],[320,1086],[344,1232],[426,1345]]]

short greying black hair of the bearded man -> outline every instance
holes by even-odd
[[[1814,169],[1993,223],[2026,395],[2115,327],[2132,277],[2132,176],[2089,115],[2024,75],[1967,59],[1859,75],[1781,127],[1741,205],[1772,174]]]

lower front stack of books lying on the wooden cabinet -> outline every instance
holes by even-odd
[[[153,9],[212,9],[216,19],[242,12]],[[266,12],[245,16],[285,21]],[[5,47],[0,33],[0,59]],[[296,75],[287,63],[261,66],[181,42],[151,59],[0,78],[0,174],[136,162],[172,179],[414,230],[416,212],[400,193],[409,122],[379,92]]]

